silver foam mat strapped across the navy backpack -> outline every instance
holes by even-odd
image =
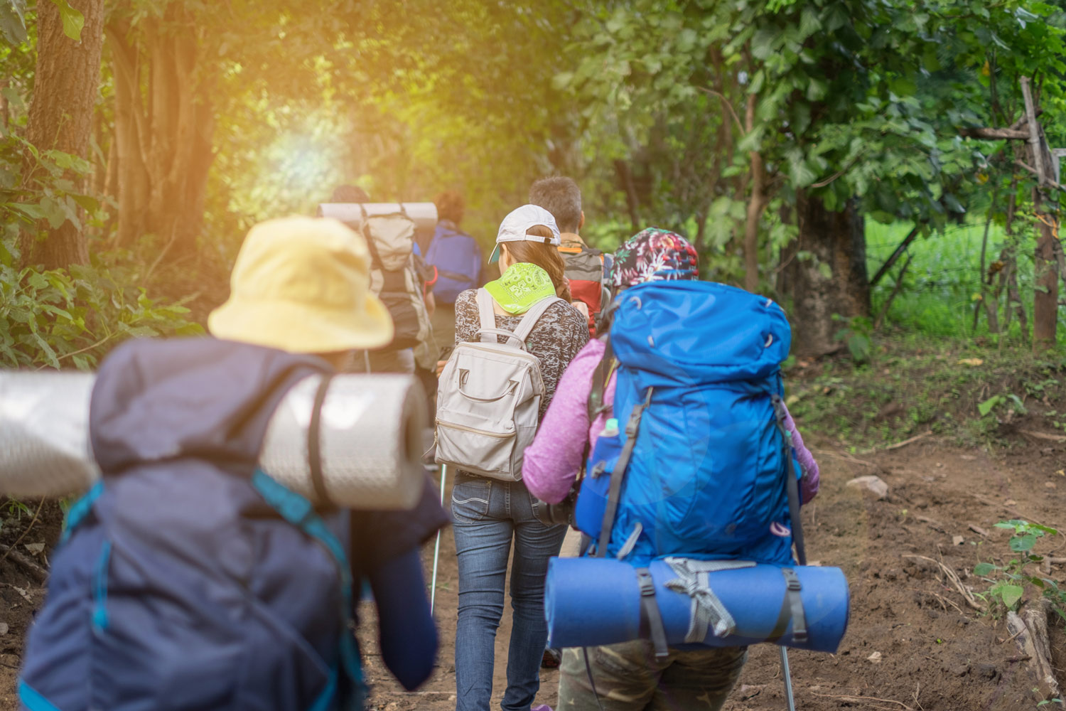
[[[293,386],[271,418],[263,471],[318,501],[307,431],[321,376]],[[0,372],[0,494],[66,496],[88,489],[100,471],[88,439],[95,375]],[[322,479],[332,503],[395,511],[418,503],[425,484],[421,436],[425,394],[410,375],[337,375],[322,403]]]

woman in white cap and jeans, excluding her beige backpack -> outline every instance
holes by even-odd
[[[485,289],[492,295],[496,327],[515,330],[521,314],[542,298],[563,302],[548,307],[529,338],[527,350],[540,361],[544,417],[566,366],[588,341],[585,318],[574,308],[556,251],[559,228],[550,212],[524,205],[504,217],[490,261],[500,279]],[[455,300],[455,342],[478,341],[481,319],[477,289]],[[501,342],[503,342],[501,340]],[[504,711],[529,711],[548,628],[544,618],[544,581],[548,560],[559,554],[565,526],[548,527],[536,516],[539,502],[521,481],[490,480],[458,472],[452,490],[452,530],[459,564],[458,628],[455,645],[457,711],[486,711],[492,693],[496,630],[503,615],[507,559],[514,539],[511,604],[514,611],[507,652]]]

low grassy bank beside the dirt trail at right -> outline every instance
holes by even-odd
[[[926,431],[960,446],[1006,442],[1016,435],[1001,423],[1021,420],[1066,433],[1062,350],[1033,355],[905,334],[876,338],[871,355],[865,365],[841,356],[789,367],[786,402],[796,421],[857,449]]]

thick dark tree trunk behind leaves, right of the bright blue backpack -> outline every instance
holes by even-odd
[[[788,265],[795,350],[800,355],[823,355],[838,346],[842,324],[834,314],[844,320],[870,316],[865,223],[854,201],[843,212],[830,212],[821,198],[806,193],[798,195],[796,216],[795,251],[809,252],[812,258],[793,259]]]

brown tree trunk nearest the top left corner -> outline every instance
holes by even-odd
[[[27,140],[39,150],[56,149],[87,158],[93,131],[93,112],[100,83],[100,51],[103,47],[103,0],[74,0],[85,25],[81,42],[63,32],[63,18],[53,2],[37,3],[37,64]],[[22,184],[32,188],[35,179],[32,156],[27,157]],[[76,190],[83,180],[74,174]],[[44,240],[37,229],[23,230],[22,262],[45,269],[84,264],[88,261],[85,236],[69,220],[56,229],[45,226]]]

